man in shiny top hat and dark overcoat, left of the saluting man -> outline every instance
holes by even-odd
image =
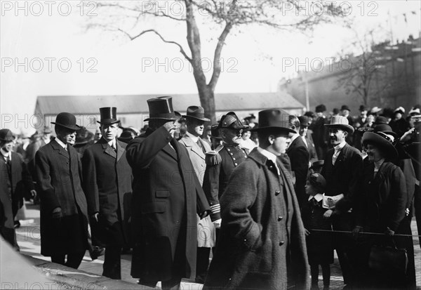
[[[117,140],[116,107],[101,107],[102,138],[83,153],[83,190],[88,202],[92,235],[105,244],[102,275],[121,279],[121,249],[129,244],[131,167],[126,143]]]

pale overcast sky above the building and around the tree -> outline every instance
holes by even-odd
[[[361,37],[370,28],[376,29],[375,41],[401,41],[409,34],[419,37],[420,1],[338,3],[345,8],[349,5],[347,19],[354,19],[353,30]],[[34,113],[38,95],[196,93],[192,69],[176,46],[163,44],[154,34],[129,41],[122,34],[100,29],[86,32],[86,22],[104,16],[93,1],[83,10],[79,1],[0,0],[0,4],[1,128],[18,131],[17,124],[22,126],[18,121],[29,120]],[[287,17],[294,12],[288,13]],[[148,18],[141,28],[156,28],[188,51],[184,25]],[[209,79],[220,29],[199,25],[202,64]],[[354,32],[339,21],[316,27],[312,37],[256,26],[233,32],[222,51],[223,70],[216,93],[276,91],[280,79],[294,77],[298,70],[311,70],[315,58],[324,61],[358,53],[349,45]]]

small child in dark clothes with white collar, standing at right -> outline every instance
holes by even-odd
[[[333,242],[330,220],[323,217],[327,209],[323,209],[323,192],[326,180],[320,173],[310,173],[305,185],[305,192],[309,195],[308,202],[302,206],[302,222],[305,227],[307,240],[307,254],[312,273],[312,288],[319,289],[319,265],[323,273],[323,290],[329,289],[330,265],[333,263]]]

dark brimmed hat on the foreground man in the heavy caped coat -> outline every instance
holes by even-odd
[[[284,110],[269,109],[259,112],[259,127],[253,128],[250,131],[263,131],[263,130],[279,130],[288,133],[296,133],[293,129],[289,128],[289,114]]]

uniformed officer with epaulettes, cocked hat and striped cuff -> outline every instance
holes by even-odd
[[[243,125],[234,112],[228,112],[222,116],[217,128],[222,145],[213,152],[207,152],[203,190],[212,210],[210,218],[215,227],[220,228],[219,199],[234,168],[247,158],[248,150],[241,147],[240,143],[241,133],[248,126]]]

